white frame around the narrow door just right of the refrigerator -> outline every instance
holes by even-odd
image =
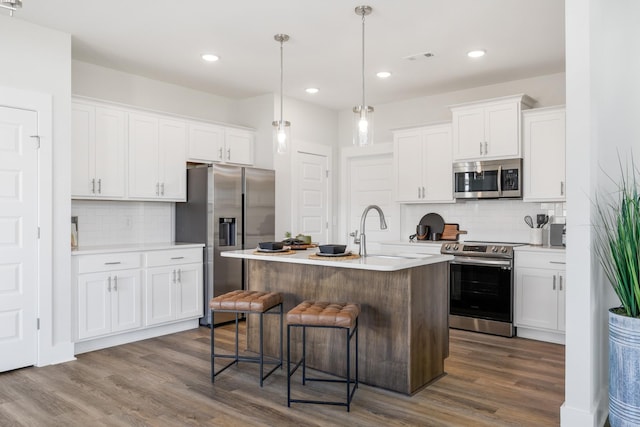
[[[298,157],[298,153],[307,153],[313,154],[316,156],[324,156],[327,158],[327,169],[329,171],[327,176],[327,222],[329,223],[329,228],[327,229],[327,236],[329,240],[332,240],[334,237],[334,220],[333,220],[333,179],[331,175],[333,174],[333,148],[328,145],[316,144],[313,142],[296,142],[293,144],[293,150],[291,155],[291,237],[295,237],[295,230],[298,229],[298,214],[300,213],[298,209],[298,196],[300,191],[300,186],[298,183],[300,180],[298,179],[298,168],[296,167],[296,160]]]

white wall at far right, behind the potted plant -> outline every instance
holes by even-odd
[[[619,176],[618,152],[640,150],[640,3],[566,0],[567,340],[563,426],[600,426],[608,412],[608,308],[591,250],[592,201]]]

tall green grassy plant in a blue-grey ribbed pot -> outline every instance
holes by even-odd
[[[596,200],[595,252],[621,306],[609,310],[609,422],[640,425],[640,194],[635,165]]]

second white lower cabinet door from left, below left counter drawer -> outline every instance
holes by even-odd
[[[140,270],[111,273],[111,331],[142,326],[142,288]]]

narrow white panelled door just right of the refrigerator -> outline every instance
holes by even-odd
[[[328,158],[320,154],[296,152],[297,228],[291,230],[311,236],[312,241],[329,243]],[[296,200],[297,199],[297,200]]]

